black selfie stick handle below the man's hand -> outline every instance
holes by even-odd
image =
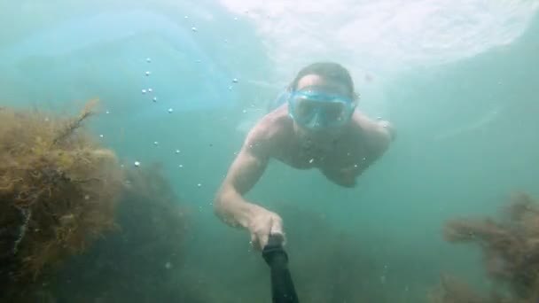
[[[288,254],[283,248],[281,237],[269,236],[268,245],[262,250],[262,257],[271,268],[273,303],[298,303],[298,296],[288,269]]]

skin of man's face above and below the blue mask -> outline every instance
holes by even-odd
[[[327,81],[316,74],[308,74],[300,79],[295,90],[298,91],[302,89],[313,89],[324,93],[324,95],[348,97],[351,102],[355,102],[355,100],[349,96],[350,93],[346,85],[342,84],[341,82]],[[339,104],[332,103],[324,105],[322,111],[326,111],[324,112],[325,116],[331,117],[332,113],[334,112],[334,105],[339,106]],[[309,136],[309,139],[319,141],[321,143],[336,139],[338,136],[340,136],[345,127],[346,124],[332,128],[308,128],[294,120],[294,128],[299,135]]]

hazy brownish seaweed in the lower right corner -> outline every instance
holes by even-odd
[[[494,221],[453,220],[445,225],[451,243],[475,243],[488,278],[496,285],[488,296],[449,276],[442,277],[434,302],[532,303],[539,300],[539,205],[518,194]]]

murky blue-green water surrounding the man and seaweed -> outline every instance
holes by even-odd
[[[396,126],[394,145],[353,190],[275,161],[248,198],[282,215],[302,302],[421,302],[441,273],[488,284],[473,246],[444,242],[445,221],[496,214],[513,190],[539,195],[537,7],[6,2],[0,100],[73,113],[99,97],[92,131],[124,166],[160,163],[188,209],[184,263],[156,262],[172,288],[203,302],[269,302],[268,268],[212,200],[246,131],[298,69],[339,61],[360,110]],[[149,279],[148,298],[185,300]],[[107,287],[90,301],[107,301]]]

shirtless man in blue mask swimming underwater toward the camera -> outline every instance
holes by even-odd
[[[230,226],[248,229],[259,250],[269,235],[285,242],[281,217],[244,198],[269,159],[297,169],[317,168],[333,183],[352,188],[395,136],[387,121],[371,120],[355,110],[352,78],[336,63],[301,69],[284,100],[249,131],[215,197],[215,214]]]

